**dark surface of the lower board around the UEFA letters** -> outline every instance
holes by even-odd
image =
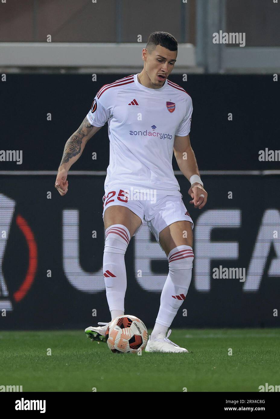
[[[77,209],[80,249],[76,256],[83,271],[95,272],[101,269],[104,248],[101,201],[104,176],[71,176],[69,173],[68,178],[69,191],[65,197],[61,197],[53,188],[54,176],[2,176],[1,207],[4,206],[4,195],[15,201],[2,267],[9,295],[4,299],[2,297],[1,300],[2,303],[5,300],[10,301],[13,306],[13,310],[7,311],[5,318],[2,317],[1,328],[4,330],[26,329],[26,327],[29,329],[84,328],[97,321],[109,320],[105,291],[84,292],[68,281],[63,269],[62,248],[62,212],[66,209]],[[271,176],[269,181],[266,176],[230,176],[227,181],[222,176],[205,176],[203,180],[209,193],[209,201],[203,211],[192,209],[188,205],[187,182],[184,176],[178,176],[178,180],[184,203],[189,208],[194,225],[202,212],[212,209],[240,209],[240,228],[230,227],[233,222],[228,213],[225,217],[229,227],[217,227],[211,233],[213,242],[238,242],[238,259],[212,260],[211,269],[222,265],[228,268],[243,267],[247,272],[264,212],[273,209],[279,213],[279,197],[275,193],[279,181],[276,176]],[[52,199],[47,199],[48,191],[52,192]],[[228,191],[233,192],[233,199],[228,199]],[[279,231],[279,224],[276,225],[276,222],[277,219],[271,220],[271,234],[273,230]],[[26,224],[29,225],[32,236],[28,235],[28,231],[23,232]],[[200,242],[196,241],[195,228],[194,256],[197,254],[197,246],[200,246]],[[96,231],[96,238],[92,238],[93,230]],[[70,238],[74,238],[71,234]],[[279,257],[279,243],[277,239],[272,240],[270,237],[268,240],[273,244],[271,243],[257,290],[243,291],[244,283],[238,279],[211,279],[209,291],[197,290],[194,286],[196,280],[194,267],[186,301],[172,326],[184,328],[279,326],[279,317],[273,316],[273,310],[277,309],[279,304],[279,272],[274,270],[277,276],[268,275],[272,261],[277,258],[274,246],[278,249]],[[150,241],[155,241],[152,235]],[[144,241],[143,246],[146,244],[147,241]],[[155,243],[155,246],[158,244]],[[211,243],[207,249],[210,253]],[[152,327],[159,307],[160,293],[143,290],[137,283],[135,238],[127,249],[125,261],[127,266],[125,311],[137,313],[147,327]],[[67,262],[69,261],[66,260]],[[32,266],[36,266],[33,271]],[[49,269],[52,272],[51,277],[47,276]],[[163,252],[161,257],[151,262],[150,269],[151,274],[162,274],[164,278],[167,276],[168,264]],[[33,282],[24,289],[23,283],[28,274],[29,281],[32,279]],[[83,276],[78,280],[80,282],[77,286],[81,287]],[[152,283],[153,277],[147,277],[146,280]],[[94,279],[92,281],[94,282]],[[5,305],[2,308],[5,308]],[[96,310],[96,317],[92,317],[93,309]],[[183,316],[184,309],[187,309],[187,316]]]

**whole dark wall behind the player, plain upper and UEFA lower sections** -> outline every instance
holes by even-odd
[[[93,82],[91,75],[8,74],[7,80],[0,84],[0,150],[23,150],[23,163],[0,162],[0,170],[56,171],[67,138],[86,116],[96,92],[105,83],[123,76],[98,74]],[[190,138],[200,170],[279,169],[277,161],[258,159],[259,150],[279,149],[279,88],[272,75],[189,75],[187,82],[172,75],[170,79],[192,96]],[[233,121],[228,121],[229,112]],[[47,113],[51,113],[51,121],[47,121]],[[92,160],[93,152],[97,153],[97,160]],[[72,170],[106,171],[108,163],[105,126],[88,142]],[[174,169],[178,169],[175,161]],[[65,197],[54,189],[54,180],[54,175],[0,177],[0,308],[9,304],[12,308],[5,317],[0,316],[0,328],[84,328],[109,319],[102,272],[94,274],[101,269],[104,248],[104,176],[75,176],[70,170]],[[195,224],[195,258],[210,259],[211,270],[223,265],[246,268],[249,272],[255,248],[260,246],[253,269],[258,278],[253,283],[259,283],[255,289],[245,291],[244,283],[238,279],[213,279],[208,270],[204,275],[208,275],[210,287],[202,290],[199,279],[203,272],[198,272],[197,267],[202,266],[198,262],[194,264],[187,299],[172,326],[279,325],[278,317],[273,316],[280,301],[279,176],[204,176],[209,200],[200,212],[188,203],[187,179],[178,176],[178,180]],[[233,193],[232,199],[228,199],[229,191]],[[52,192],[51,199],[47,199],[48,192]],[[221,209],[225,210],[222,217]],[[201,217],[210,215],[212,210],[215,217],[210,224],[218,223],[218,227],[213,228],[206,253],[201,255],[203,237],[200,242],[198,235]],[[240,225],[234,225],[231,211],[239,212]],[[73,225],[65,225],[65,214]],[[220,220],[226,225],[220,225]],[[203,222],[202,227],[207,227],[207,222],[209,225],[209,220]],[[93,230],[97,232],[96,238],[92,238]],[[3,231],[8,233],[6,239],[2,237]],[[277,237],[273,237],[275,231]],[[163,282],[168,265],[147,227],[143,227],[143,232],[142,244],[133,238],[126,254],[125,308],[151,327],[160,299],[160,290],[153,290],[153,276],[160,275]],[[236,257],[230,257],[228,245],[228,258],[213,259],[210,256],[213,242],[221,246],[225,242],[238,243]],[[147,246],[152,246],[145,272],[145,284],[150,291],[135,274],[141,264],[141,258],[136,264],[136,255],[144,254]],[[79,272],[76,268],[71,272],[72,263],[76,263],[76,268],[78,264]],[[49,269],[52,277],[47,277]],[[3,282],[7,292],[3,292]],[[96,317],[92,317],[93,309],[97,310]],[[187,309],[187,316],[183,316],[183,309]]]

